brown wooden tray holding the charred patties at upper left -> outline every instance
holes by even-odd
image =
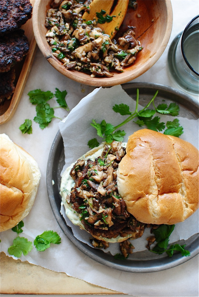
[[[30,0],[30,2],[34,7],[35,0]],[[15,65],[15,92],[12,95],[11,99],[5,100],[4,104],[0,105],[0,124],[4,124],[5,122],[9,121],[15,113],[15,110],[17,109],[17,106],[23,94],[23,89],[30,73],[30,69],[36,53],[36,40],[33,33],[32,18],[29,19],[26,24],[21,26],[21,29],[25,31],[24,34],[28,38],[29,52],[26,57],[24,57],[23,61]]]

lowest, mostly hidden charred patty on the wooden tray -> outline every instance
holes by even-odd
[[[15,91],[15,69],[11,69],[8,72],[0,73],[0,104],[5,99],[10,99]]]

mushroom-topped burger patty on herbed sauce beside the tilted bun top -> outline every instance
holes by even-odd
[[[101,157],[94,161],[78,160],[70,175],[75,180],[71,189],[70,202],[80,213],[85,229],[94,237],[106,238],[142,236],[146,225],[138,222],[126,210],[125,201],[117,189],[117,168],[125,155],[122,143],[106,144]]]

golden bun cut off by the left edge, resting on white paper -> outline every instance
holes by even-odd
[[[28,215],[41,173],[34,158],[6,134],[0,135],[0,173],[0,231],[5,231]]]

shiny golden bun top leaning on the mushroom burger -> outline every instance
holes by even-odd
[[[198,150],[149,129],[128,139],[117,186],[127,210],[147,224],[176,224],[198,208]]]

